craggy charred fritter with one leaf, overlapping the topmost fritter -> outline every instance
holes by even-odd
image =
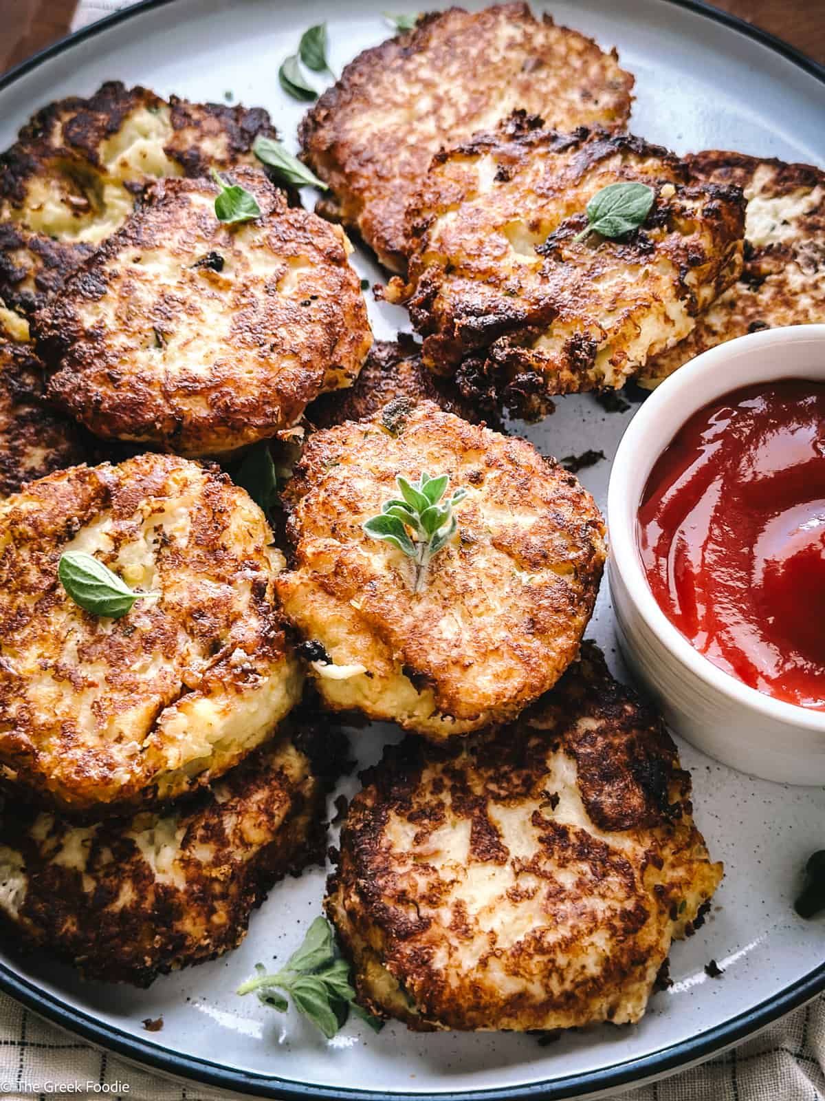
[[[654,192],[642,226],[580,237],[590,199],[622,182]],[[683,339],[739,273],[744,211],[738,187],[692,183],[660,145],[516,111],[433,157],[407,210],[409,277],[387,296],[409,306],[428,367],[537,417]]]

